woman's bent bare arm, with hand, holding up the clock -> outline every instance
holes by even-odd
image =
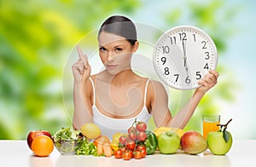
[[[205,95],[207,90],[211,89],[216,83],[218,72],[210,71],[205,78],[199,81],[201,87],[195,90],[190,101],[172,118],[168,109],[168,98],[166,90],[160,83],[154,83],[154,99],[152,103],[152,112],[156,126],[170,126],[183,129],[188,124],[189,119],[195,112],[195,108]]]

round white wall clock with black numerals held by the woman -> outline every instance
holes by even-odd
[[[154,69],[174,89],[195,89],[209,70],[215,70],[218,53],[212,38],[194,26],[177,26],[156,43]]]

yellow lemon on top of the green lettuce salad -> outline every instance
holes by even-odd
[[[89,139],[96,139],[102,135],[102,130],[93,123],[85,123],[81,126],[80,131]]]

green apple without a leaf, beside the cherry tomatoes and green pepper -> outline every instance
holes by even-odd
[[[176,153],[180,147],[180,138],[174,132],[164,132],[157,139],[160,153]]]

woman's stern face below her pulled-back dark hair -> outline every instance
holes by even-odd
[[[108,32],[99,35],[99,55],[111,75],[131,69],[131,55],[137,48],[138,42],[131,45],[125,37]]]

